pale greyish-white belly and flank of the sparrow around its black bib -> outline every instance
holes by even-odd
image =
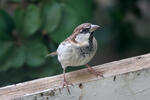
[[[93,51],[84,55],[81,55],[80,48],[75,47],[70,43],[66,43],[66,41],[62,42],[57,49],[58,60],[62,67],[87,64],[93,58],[97,50],[96,39],[94,38],[93,41]]]

